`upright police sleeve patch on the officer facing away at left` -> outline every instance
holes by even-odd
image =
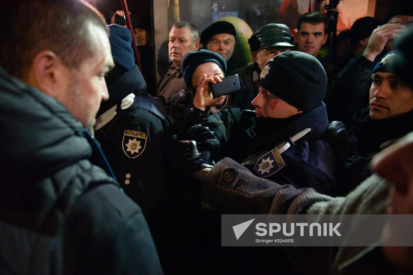
[[[135,159],[145,150],[147,133],[125,130],[123,133],[122,149],[130,159]]]

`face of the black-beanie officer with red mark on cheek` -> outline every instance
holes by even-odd
[[[251,104],[255,107],[256,117],[285,119],[301,112],[261,86],[259,86],[259,93]]]

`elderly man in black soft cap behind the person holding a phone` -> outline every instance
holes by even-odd
[[[227,62],[228,71],[235,68],[235,37],[237,32],[233,24],[226,21],[216,21],[201,33],[201,44],[204,49],[220,54]]]

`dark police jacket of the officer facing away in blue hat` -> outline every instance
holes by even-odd
[[[118,99],[116,116],[96,131],[96,138],[121,187],[147,215],[165,192],[165,110],[159,99],[147,94],[136,65],[110,83],[108,90]],[[121,100],[131,93],[136,96],[134,103],[122,110]]]

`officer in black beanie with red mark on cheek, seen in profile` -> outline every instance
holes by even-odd
[[[195,123],[196,117],[208,115],[202,97],[205,80],[199,83],[190,113]],[[311,55],[284,52],[263,67],[258,85],[259,95],[252,101],[255,121],[251,111],[230,108],[201,122],[221,143],[216,159],[230,156],[261,177],[335,194],[332,150],[320,140],[328,125],[322,102],[327,87],[323,66]],[[205,128],[190,131],[196,138]]]

